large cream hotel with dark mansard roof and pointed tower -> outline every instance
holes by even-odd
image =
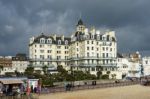
[[[82,20],[71,37],[46,36],[30,38],[29,58],[31,66],[42,66],[89,71],[96,74],[99,69],[116,71],[117,40],[114,31],[101,33],[88,29]]]

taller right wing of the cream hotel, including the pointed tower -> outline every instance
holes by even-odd
[[[71,36],[69,59],[75,70],[97,71],[116,70],[117,42],[114,31],[100,33],[95,28],[88,29],[82,20],[78,21],[76,32]]]

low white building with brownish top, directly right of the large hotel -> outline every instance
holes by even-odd
[[[125,77],[141,77],[142,63],[139,52],[132,54],[119,55],[117,58],[118,72],[122,78]]]

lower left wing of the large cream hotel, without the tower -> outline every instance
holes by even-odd
[[[64,36],[46,36],[43,33],[38,37],[30,38],[29,57],[30,65],[39,70],[42,66],[56,69],[62,65],[67,69],[70,38]]]

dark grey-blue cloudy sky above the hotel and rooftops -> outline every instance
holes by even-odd
[[[150,0],[0,0],[0,55],[28,54],[41,32],[70,36],[80,13],[87,27],[116,31],[119,52],[148,53],[149,10]]]

